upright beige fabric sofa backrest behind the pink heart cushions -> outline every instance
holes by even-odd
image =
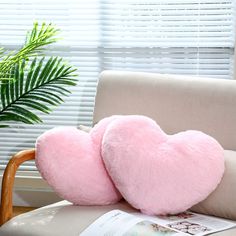
[[[236,150],[236,81],[142,72],[100,75],[94,123],[115,114],[154,119],[168,133],[194,129]]]

